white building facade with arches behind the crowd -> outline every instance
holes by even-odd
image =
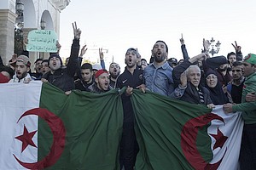
[[[7,64],[15,53],[15,38],[26,37],[35,29],[54,30],[59,36],[61,10],[70,0],[1,0],[0,55]],[[17,38],[16,38],[17,40]],[[22,43],[23,44],[23,43]],[[29,53],[30,61],[44,58],[44,54]]]

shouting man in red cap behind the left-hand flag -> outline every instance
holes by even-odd
[[[95,75],[95,82],[89,86],[89,90],[95,94],[108,92],[112,88],[109,86],[109,74],[105,69],[99,70]]]

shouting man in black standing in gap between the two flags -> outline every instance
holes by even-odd
[[[117,78],[115,88],[127,87],[122,94],[124,111],[123,133],[120,142],[120,164],[125,170],[133,170],[135,166],[138,146],[134,131],[134,112],[130,95],[133,88],[143,86],[143,71],[137,67],[137,50],[129,48],[125,54],[125,71]]]

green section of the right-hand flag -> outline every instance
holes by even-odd
[[[197,125],[195,122],[185,131],[183,126],[193,118],[207,115],[211,110],[205,105],[191,105],[148,91],[143,94],[135,90],[131,102],[137,122],[136,133],[140,148],[136,169],[194,169],[189,164],[188,157],[184,155],[181,136],[182,132],[183,136],[191,135],[190,131],[195,131],[193,126]],[[197,129],[199,132],[196,133],[195,141],[187,142],[195,143],[195,150],[200,153],[197,154],[199,159],[210,161],[212,160],[211,139],[207,134],[207,127],[203,127]],[[188,139],[192,140],[192,138]]]

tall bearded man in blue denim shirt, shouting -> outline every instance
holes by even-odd
[[[168,56],[166,42],[155,42],[152,49],[152,55],[154,61],[145,68],[143,75],[146,89],[156,94],[162,94],[172,98],[180,98],[186,88],[186,82],[180,81],[181,83],[177,88],[174,88],[172,67],[166,61]]]

